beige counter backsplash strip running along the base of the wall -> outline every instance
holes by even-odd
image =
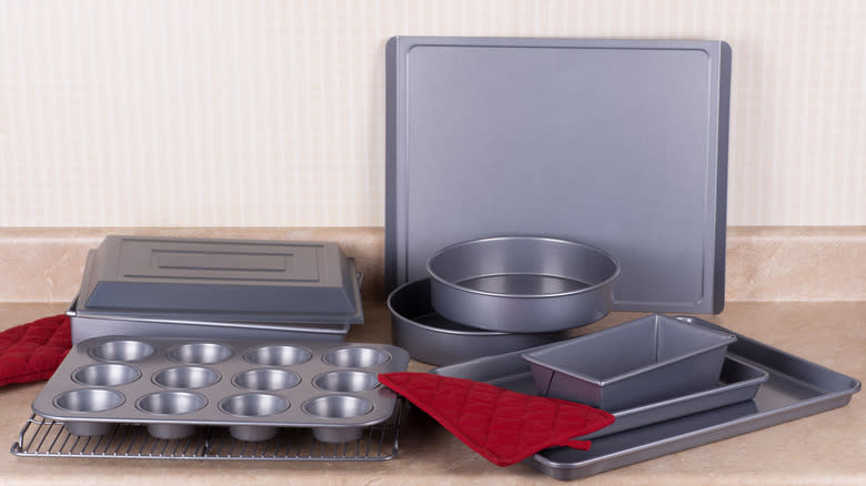
[[[384,298],[383,227],[0,227],[0,302],[70,302],[88,250],[108,234],[334,241]],[[866,226],[729,226],[725,300],[866,300]]]

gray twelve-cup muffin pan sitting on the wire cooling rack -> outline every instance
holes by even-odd
[[[384,344],[97,337],[73,346],[32,408],[82,436],[133,423],[167,439],[210,425],[241,441],[306,427],[345,443],[392,416],[396,395],[376,376],[407,364]]]

